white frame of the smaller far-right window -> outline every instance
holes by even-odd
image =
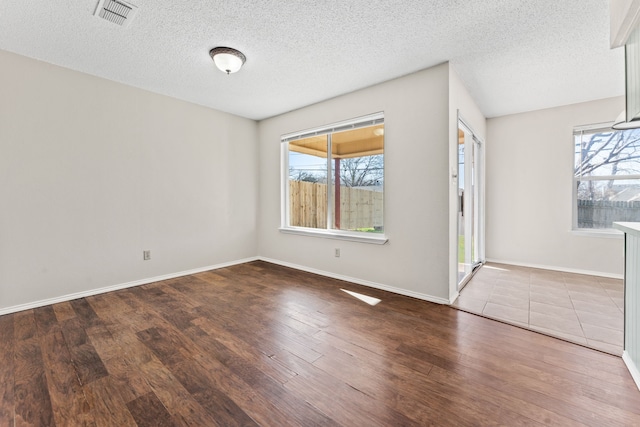
[[[611,179],[619,180],[638,180],[640,175],[602,175],[596,177],[576,176],[576,144],[575,137],[578,134],[598,133],[598,131],[621,132],[622,130],[612,129],[613,122],[595,123],[591,125],[575,126],[572,133],[572,171],[571,171],[571,232],[578,236],[586,237],[602,237],[602,238],[622,238],[624,233],[615,228],[581,228],[578,226],[578,188],[577,183],[580,181],[608,181]],[[586,178],[586,179],[585,179]]]

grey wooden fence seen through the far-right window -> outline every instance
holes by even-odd
[[[578,227],[612,228],[614,221],[640,221],[640,202],[578,200]]]

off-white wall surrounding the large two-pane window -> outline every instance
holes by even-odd
[[[259,123],[259,254],[437,301],[449,298],[449,66],[443,64]],[[385,114],[385,245],[283,234],[280,136]],[[334,248],[341,257],[334,257]]]

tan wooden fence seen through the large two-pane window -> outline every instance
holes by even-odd
[[[290,224],[327,227],[327,185],[289,181]],[[340,229],[382,228],[383,193],[340,186]]]

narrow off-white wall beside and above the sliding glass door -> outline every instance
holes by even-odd
[[[456,71],[453,67],[449,67],[450,175],[458,168],[458,115],[472,128],[477,138],[483,142],[486,141],[487,120]],[[483,160],[484,158],[481,157],[480,161]],[[480,171],[484,172],[484,164],[481,165]],[[451,179],[449,183],[449,299],[451,301],[456,298],[458,288],[458,187],[458,180]],[[480,244],[482,243],[481,241]]]

